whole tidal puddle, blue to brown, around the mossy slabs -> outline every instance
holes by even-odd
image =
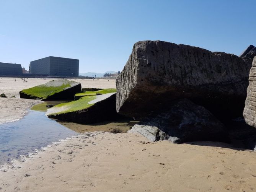
[[[28,115],[17,122],[0,124],[0,165],[11,159],[33,153],[36,149],[84,132],[105,131],[126,133],[137,121],[103,122],[98,124],[77,124],[50,119],[45,115],[47,104],[68,101],[47,101],[34,105]]]

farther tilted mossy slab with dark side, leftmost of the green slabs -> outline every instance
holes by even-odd
[[[73,100],[81,91],[81,84],[66,79],[52,80],[20,91],[20,98],[41,99],[42,101]]]

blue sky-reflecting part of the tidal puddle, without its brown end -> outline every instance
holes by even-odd
[[[30,110],[27,116],[17,122],[0,124],[0,164],[78,134],[44,114]]]

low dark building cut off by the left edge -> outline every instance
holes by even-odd
[[[0,75],[22,75],[20,64],[0,63]]]

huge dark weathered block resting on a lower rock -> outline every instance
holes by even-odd
[[[218,118],[243,112],[252,59],[163,41],[135,43],[116,80],[116,109],[143,119],[189,98]]]

